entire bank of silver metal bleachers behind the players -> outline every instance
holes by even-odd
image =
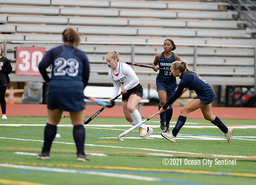
[[[106,53],[117,50],[121,62],[152,65],[165,39],[211,85],[255,85],[254,32],[226,2],[126,0],[0,0],[0,40],[15,61],[15,47],[60,44],[73,27],[83,34],[80,49],[91,62],[90,83],[111,83]],[[15,69],[15,66],[14,66]],[[134,67],[140,81],[155,83],[153,70]],[[11,80],[26,81],[15,77]],[[42,81],[35,78],[34,80]],[[178,80],[178,79],[177,79]]]

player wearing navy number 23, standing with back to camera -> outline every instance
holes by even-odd
[[[49,50],[38,65],[44,80],[48,83],[48,120],[44,130],[44,145],[39,159],[50,159],[49,152],[57,133],[57,124],[63,111],[69,111],[73,136],[77,148],[77,161],[89,161],[84,153],[84,88],[90,74],[89,61],[85,53],[77,49],[80,34],[72,28],[63,31],[64,45]],[[52,65],[49,78],[46,68]]]

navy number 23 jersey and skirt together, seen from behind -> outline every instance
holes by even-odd
[[[52,77],[46,68],[52,65]],[[48,109],[78,112],[85,108],[84,88],[90,67],[85,53],[73,46],[62,45],[49,50],[38,65],[44,80],[49,82]]]

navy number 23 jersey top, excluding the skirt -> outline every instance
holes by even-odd
[[[52,77],[46,71],[52,64]],[[49,50],[38,68],[50,91],[81,91],[85,88],[90,73],[89,61],[84,52],[73,46],[58,46]],[[54,86],[54,88],[51,88]]]

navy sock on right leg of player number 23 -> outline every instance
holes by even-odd
[[[73,137],[75,140],[76,148],[77,148],[77,153],[84,153],[84,143],[85,143],[85,128],[84,125],[76,125],[73,128]]]

